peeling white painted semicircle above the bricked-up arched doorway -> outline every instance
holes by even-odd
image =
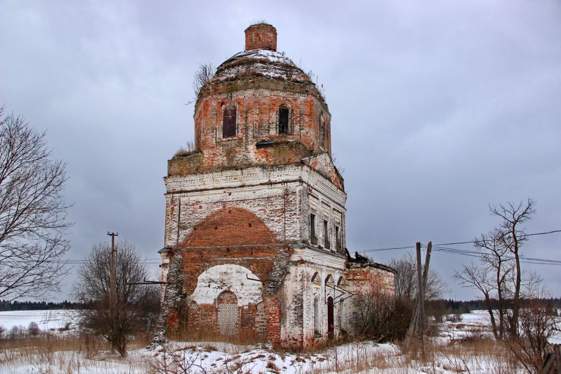
[[[238,306],[263,301],[261,299],[262,283],[247,278],[259,279],[247,267],[240,265],[224,264],[210,267],[199,275],[191,301],[195,301],[197,304],[212,304],[225,290],[236,294]]]

